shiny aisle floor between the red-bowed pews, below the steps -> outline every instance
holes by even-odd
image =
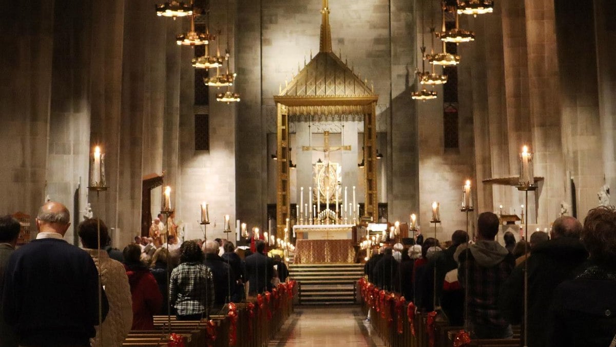
[[[296,306],[269,346],[385,346],[359,306]]]

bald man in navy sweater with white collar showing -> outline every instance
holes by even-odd
[[[90,346],[95,336],[98,272],[86,251],[64,240],[69,221],[63,204],[44,204],[36,217],[36,240],[10,256],[2,306],[20,346]],[[103,291],[103,319],[107,311]]]

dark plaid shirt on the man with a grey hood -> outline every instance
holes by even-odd
[[[516,263],[514,256],[509,253],[493,267],[482,267],[477,264],[471,251],[464,249],[458,261],[458,281],[462,287],[466,286],[468,261],[468,310],[471,322],[488,327],[507,327],[509,323],[501,316],[496,299],[501,285],[513,271]]]

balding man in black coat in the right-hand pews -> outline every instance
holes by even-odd
[[[580,242],[582,224],[573,217],[560,217],[552,225],[552,240],[538,243],[527,259],[529,269],[529,346],[547,346],[546,314],[556,286],[575,277],[588,258]],[[524,266],[517,266],[501,286],[498,306],[512,324],[522,324],[524,315]],[[524,329],[522,329],[524,331]],[[615,332],[616,333],[616,332]]]

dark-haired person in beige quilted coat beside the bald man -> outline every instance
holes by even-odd
[[[126,270],[121,262],[110,259],[107,251],[102,249],[109,242],[107,225],[102,220],[100,220],[100,243],[99,219],[84,220],[79,223],[77,230],[84,251],[90,254],[97,270],[102,274],[100,281],[109,301],[107,319],[97,327],[97,338],[92,346],[100,346],[98,337],[101,331],[103,346],[120,346],[132,327],[131,287],[128,285]],[[100,251],[97,249],[99,245]]]

